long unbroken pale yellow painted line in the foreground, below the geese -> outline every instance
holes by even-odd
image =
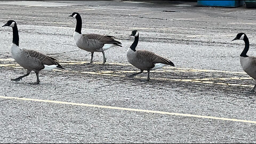
[[[41,99],[29,99],[29,98],[17,98],[17,97],[3,97],[3,96],[0,96],[0,98],[2,98],[2,99],[13,99],[13,100],[23,100],[23,101],[36,101],[36,102],[46,102],[46,103],[57,103],[57,104],[73,105],[73,106],[95,107],[95,108],[103,108],[103,109],[135,111],[135,112],[152,113],[152,114],[163,114],[163,115],[173,115],[173,116],[207,118],[207,119],[216,119],[216,120],[222,120],[222,121],[243,122],[243,123],[253,123],[253,124],[256,124],[256,121],[247,121],[247,120],[243,120],[243,119],[225,118],[225,117],[214,117],[214,116],[202,116],[202,115],[192,115],[192,114],[181,114],[181,113],[170,113],[170,112],[166,112],[166,111],[157,111],[157,110],[112,107],[112,106],[102,106],[102,105],[91,105],[91,104],[86,104],[86,103],[75,103],[75,102],[65,102],[65,101],[55,101],[55,100],[41,100]]]

